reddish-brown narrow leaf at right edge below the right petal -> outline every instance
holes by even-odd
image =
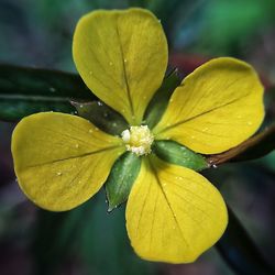
[[[244,141],[237,147],[233,147],[224,153],[210,155],[207,162],[210,166],[220,165],[227,162],[244,162],[256,160],[275,148],[275,125],[266,128],[258,134]]]

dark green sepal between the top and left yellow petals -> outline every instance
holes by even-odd
[[[72,105],[76,108],[79,117],[89,120],[106,133],[120,135],[129,128],[125,119],[120,113],[116,112],[101,101],[72,101]]]

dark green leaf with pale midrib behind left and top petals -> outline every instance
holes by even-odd
[[[96,99],[78,75],[0,65],[0,120],[18,121],[43,111],[74,113],[72,99]]]

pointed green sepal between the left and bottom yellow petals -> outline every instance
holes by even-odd
[[[125,152],[114,163],[106,182],[108,212],[127,201],[132,185],[141,168],[141,157],[131,152]]]

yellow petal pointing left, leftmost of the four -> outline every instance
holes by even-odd
[[[44,209],[72,209],[102,186],[123,151],[120,143],[79,117],[53,112],[26,117],[12,135],[19,185]]]

